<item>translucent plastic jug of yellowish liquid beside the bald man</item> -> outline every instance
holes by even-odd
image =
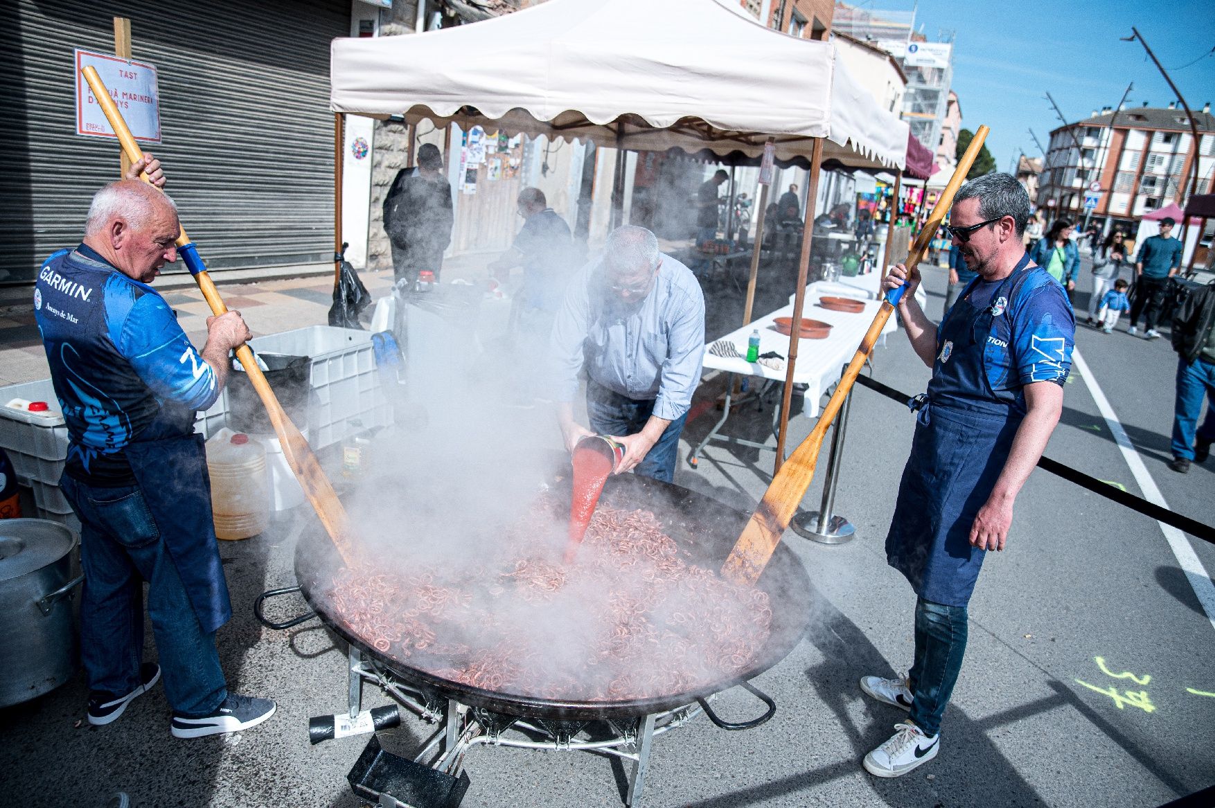
[[[207,471],[211,478],[215,536],[249,538],[270,524],[266,448],[228,428],[207,441]]]

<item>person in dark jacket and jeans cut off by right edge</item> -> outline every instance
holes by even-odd
[[[1215,281],[1196,288],[1177,306],[1172,350],[1177,352],[1177,395],[1169,468],[1185,474],[1192,462],[1206,460],[1215,442]],[[1196,431],[1204,394],[1206,418]]]

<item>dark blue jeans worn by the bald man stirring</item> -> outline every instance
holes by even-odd
[[[140,685],[143,582],[164,693],[174,713],[208,716],[227,697],[204,634],[139,486],[97,488],[63,475],[60,486],[80,519],[80,660],[90,690],[125,695]]]

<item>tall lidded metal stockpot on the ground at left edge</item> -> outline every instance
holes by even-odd
[[[45,519],[0,519],[0,707],[67,682],[77,666],[74,531]]]

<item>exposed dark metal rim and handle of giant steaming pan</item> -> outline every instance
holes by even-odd
[[[564,487],[561,487],[564,485]],[[384,481],[385,493],[392,482]],[[556,484],[558,496],[569,497],[569,475],[564,484]],[[379,490],[379,488],[377,488]],[[566,499],[567,501],[567,499]],[[609,479],[600,499],[601,504],[616,508],[644,508],[659,516],[663,532],[676,541],[691,560],[701,566],[720,569],[746,525],[750,514],[729,508],[705,495],[660,482],[635,474],[621,474]],[[333,573],[341,569],[333,542],[328,535],[313,526],[305,531],[295,548],[295,577],[309,605],[346,642],[360,648],[364,657],[388,666],[400,678],[453,697],[462,704],[484,707],[495,712],[561,721],[595,721],[600,718],[628,718],[673,710],[691,704],[699,697],[719,693],[746,682],[781,661],[801,642],[810,618],[810,582],[801,561],[784,544],[776,547],[772,561],[757,586],[768,593],[773,618],[768,643],[759,650],[753,665],[736,676],[723,678],[680,693],[668,693],[646,699],[620,700],[554,700],[536,696],[498,693],[445,679],[420,669],[406,659],[396,659],[391,652],[379,652],[355,635],[340,614],[333,614],[320,593],[324,591]],[[311,615],[286,623],[272,623],[261,614],[266,597],[294,592],[295,588],[267,592],[258,599],[255,612],[267,626],[286,628]]]

